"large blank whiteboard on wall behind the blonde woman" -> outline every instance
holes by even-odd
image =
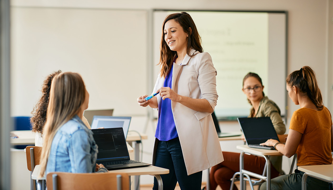
[[[12,115],[28,115],[54,71],[81,74],[88,109],[143,115],[147,94],[147,10],[11,8]]]

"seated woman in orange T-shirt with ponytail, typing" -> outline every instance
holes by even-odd
[[[308,66],[292,72],[287,77],[287,91],[290,99],[300,106],[294,111],[289,125],[286,144],[269,139],[261,145],[274,148],[287,157],[297,153],[297,166],[323,165],[332,163],[333,138],[332,117],[323,105],[323,99],[315,77]],[[301,189],[304,172],[282,175],[271,180],[271,189]],[[327,182],[308,177],[308,189],[328,189]],[[260,190],[266,189],[266,182]]]

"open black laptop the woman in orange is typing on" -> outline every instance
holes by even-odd
[[[238,117],[237,120],[249,147],[274,149],[273,146],[259,145],[271,138],[279,141],[270,117]]]

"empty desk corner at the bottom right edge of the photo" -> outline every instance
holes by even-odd
[[[333,185],[333,165],[315,165],[315,166],[298,166],[299,171],[304,172],[302,177],[302,190],[306,189],[306,179],[308,176],[332,183]]]

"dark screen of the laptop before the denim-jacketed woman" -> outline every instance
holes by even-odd
[[[91,129],[98,145],[97,162],[129,160],[123,128]]]

